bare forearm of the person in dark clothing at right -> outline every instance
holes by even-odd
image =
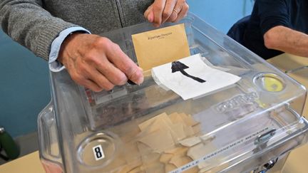
[[[308,35],[284,26],[275,26],[264,35],[267,48],[308,57]]]

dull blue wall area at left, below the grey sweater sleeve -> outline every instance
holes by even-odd
[[[0,30],[0,126],[14,137],[36,131],[49,100],[46,61]]]

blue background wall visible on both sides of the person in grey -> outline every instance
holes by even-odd
[[[252,0],[188,0],[190,11],[227,33],[252,10]],[[48,104],[46,61],[11,41],[0,30],[0,126],[14,137],[36,131],[36,118]]]

